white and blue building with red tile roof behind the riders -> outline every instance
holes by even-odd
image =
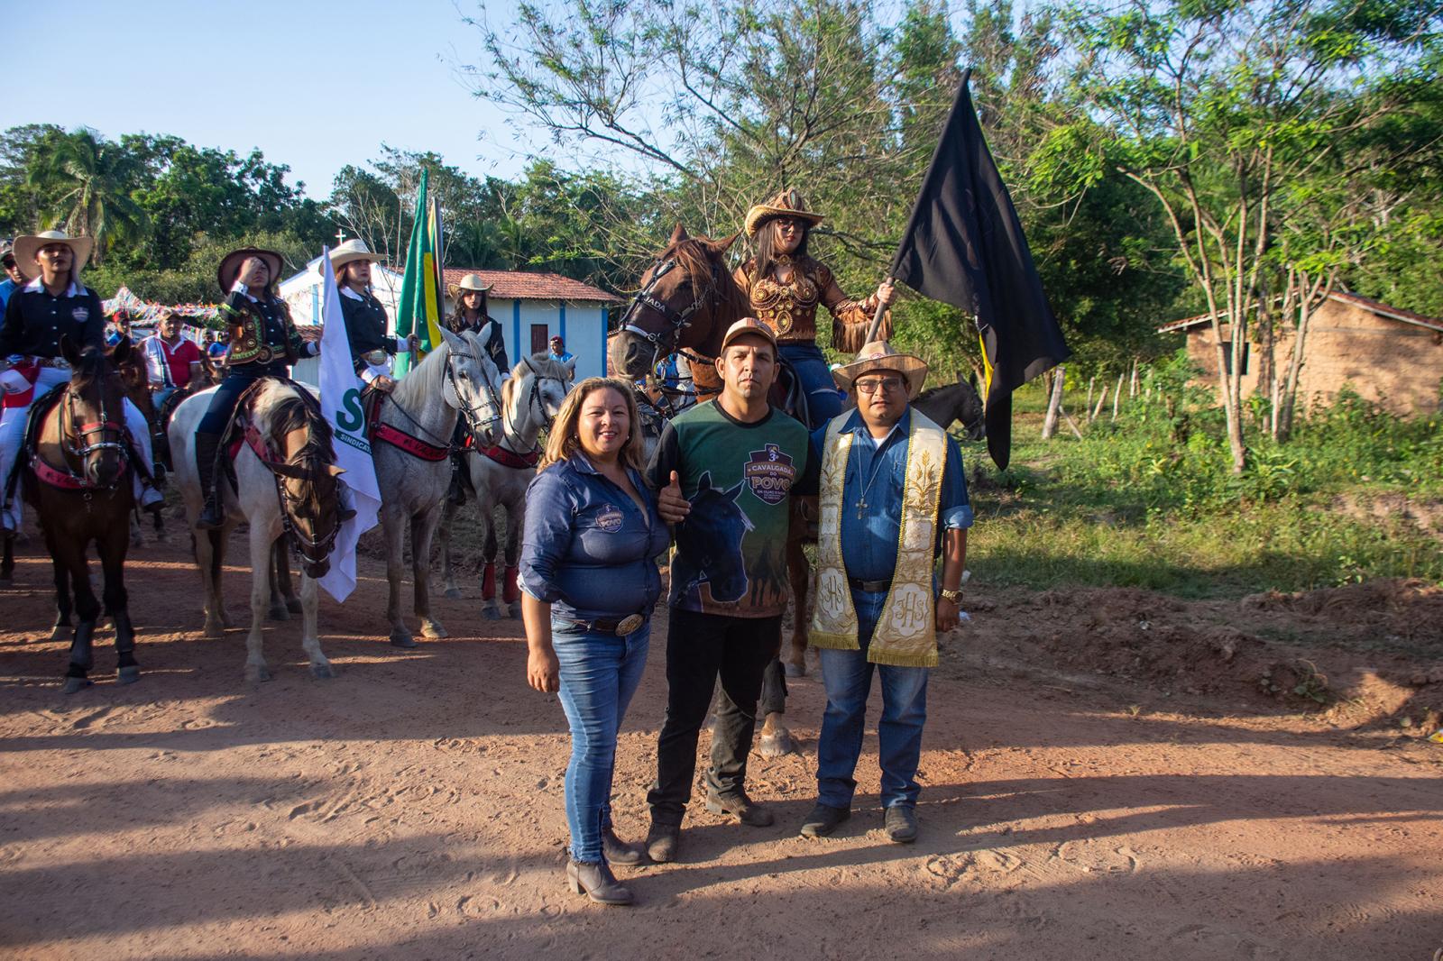
[[[317,257],[306,270],[287,277],[280,284],[280,296],[290,306],[296,323],[320,322],[320,264]],[[553,336],[566,342],[576,355],[576,379],[606,375],[606,323],[610,310],[620,302],[616,294],[563,277],[525,270],[446,268],[446,310],[455,306],[450,290],[466,274],[479,274],[491,284],[486,306],[501,322],[506,342],[506,358],[515,365],[524,354],[547,351]],[[385,306],[390,332],[395,332],[395,304],[401,296],[401,274],[377,264],[371,268],[371,289]],[[297,379],[309,379],[297,365]]]

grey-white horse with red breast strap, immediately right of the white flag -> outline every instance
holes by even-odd
[[[442,519],[442,501],[450,485],[450,442],[460,417],[475,444],[489,447],[501,436],[501,372],[491,362],[473,332],[442,330],[444,343],[401,378],[381,404],[381,424],[421,442],[420,453],[408,453],[374,437],[371,455],[381,488],[381,527],[385,535],[385,577],[390,597],[385,616],[391,622],[391,644],[414,648],[401,616],[401,580],[405,576],[401,535],[411,522],[411,576],[416,616],[421,635],[444,638],[446,629],[431,616],[431,537]]]

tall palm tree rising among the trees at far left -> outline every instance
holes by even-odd
[[[150,227],[130,196],[139,163],[118,143],[88,127],[48,144],[30,170],[30,185],[45,198],[46,228],[95,238],[95,263],[115,240],[139,240]]]

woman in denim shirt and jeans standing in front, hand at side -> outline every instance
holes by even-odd
[[[566,876],[571,890],[603,905],[632,902],[609,864],[641,861],[641,851],[612,833],[612,771],[661,594],[654,558],[670,541],[642,480],[639,427],[625,381],[582,381],[561,405],[527,491],[521,545],[527,681],[560,691],[571,726]]]

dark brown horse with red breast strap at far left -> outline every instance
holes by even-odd
[[[35,506],[55,569],[55,602],[59,638],[71,620],[71,593],[78,618],[71,638],[71,665],[65,693],[91,684],[91,642],[101,603],[91,589],[85,551],[95,543],[105,579],[105,613],[115,625],[118,680],[140,680],[136,664],[136,631],[127,610],[124,566],[130,548],[130,511],[134,506],[130,472],[131,444],[124,424],[124,390],[115,365],[127,359],[123,341],[113,358],[98,348],[79,351],[61,339],[71,382],[49,410],[36,418],[35,456],[25,473],[26,499]]]

